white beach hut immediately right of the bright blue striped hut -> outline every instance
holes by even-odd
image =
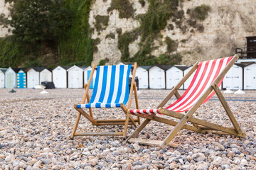
[[[42,72],[43,69],[45,69],[45,67],[30,67],[26,70],[28,88],[33,88],[40,84],[40,72]]]

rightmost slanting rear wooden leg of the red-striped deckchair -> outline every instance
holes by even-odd
[[[225,101],[225,98],[223,94],[221,93],[218,84],[213,84],[213,89],[215,93],[217,94],[218,98],[220,99],[220,103],[222,104],[223,108],[225,109],[226,113],[228,114],[228,117],[231,120],[231,123],[233,124],[235,130],[238,132],[238,134],[242,133],[242,130],[240,129],[240,126],[238,125],[238,122],[235,120],[235,116],[233,115],[232,111],[230,110],[230,107],[228,106],[227,101]]]

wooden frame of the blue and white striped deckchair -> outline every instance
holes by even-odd
[[[133,92],[134,92],[136,108],[139,108],[139,102],[138,102],[138,97],[137,97],[137,86],[136,86],[136,83],[134,82],[135,81],[136,69],[137,69],[137,62],[132,64],[132,67],[133,67],[132,84],[131,84],[131,88],[130,88],[130,91],[129,91],[129,98],[128,98],[128,102],[127,102],[127,108],[131,108]],[[82,96],[81,104],[85,104],[85,101],[87,101],[87,103],[90,102],[90,96],[89,96],[88,91],[89,91],[89,88],[90,88],[90,84],[92,82],[93,73],[95,72],[96,68],[97,68],[96,64],[93,64],[92,71],[91,71],[90,77],[88,79],[88,84],[85,84],[85,86],[84,86],[85,87],[85,93]],[[123,135],[124,137],[126,137],[128,125],[134,125],[136,127],[136,122],[138,124],[140,124],[139,116],[137,116],[137,119],[132,118],[132,116],[127,113],[128,109],[126,108],[126,106],[124,106],[124,103],[121,103],[121,108],[122,108],[122,111],[124,111],[124,113],[126,115],[125,119],[95,120],[93,118],[92,108],[88,108],[90,115],[83,108],[77,108],[77,105],[75,105],[74,108],[75,108],[75,110],[78,111],[78,115],[77,115],[77,118],[75,119],[75,125],[74,125],[73,131],[71,133],[71,139],[74,139],[75,136],[91,136],[91,135],[113,135],[113,136]],[[90,120],[92,125],[95,125],[95,126],[100,126],[100,125],[124,125],[124,131],[123,132],[76,132],[77,129],[78,129],[78,123],[80,121],[81,115],[83,115],[85,118],[87,118],[87,120]]]

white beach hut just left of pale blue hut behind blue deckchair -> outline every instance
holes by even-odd
[[[74,65],[70,67],[68,72],[68,88],[83,88],[83,71],[86,67],[78,67]]]

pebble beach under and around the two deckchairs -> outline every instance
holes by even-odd
[[[47,89],[48,94],[40,94],[41,89],[9,91],[0,89],[0,169],[256,169],[256,91],[223,94],[246,137],[181,130],[165,149],[129,144],[123,137],[71,140],[78,113],[73,106],[82,101],[83,89]],[[139,90],[139,108],[155,108],[169,92]],[[174,101],[173,97],[169,104]],[[92,111],[98,119],[124,118],[121,108]],[[232,127],[215,95],[194,116]],[[164,140],[172,128],[151,121],[139,137]],[[84,117],[78,125],[78,132],[122,130],[122,126],[92,126]],[[128,134],[134,130],[129,125]]]

